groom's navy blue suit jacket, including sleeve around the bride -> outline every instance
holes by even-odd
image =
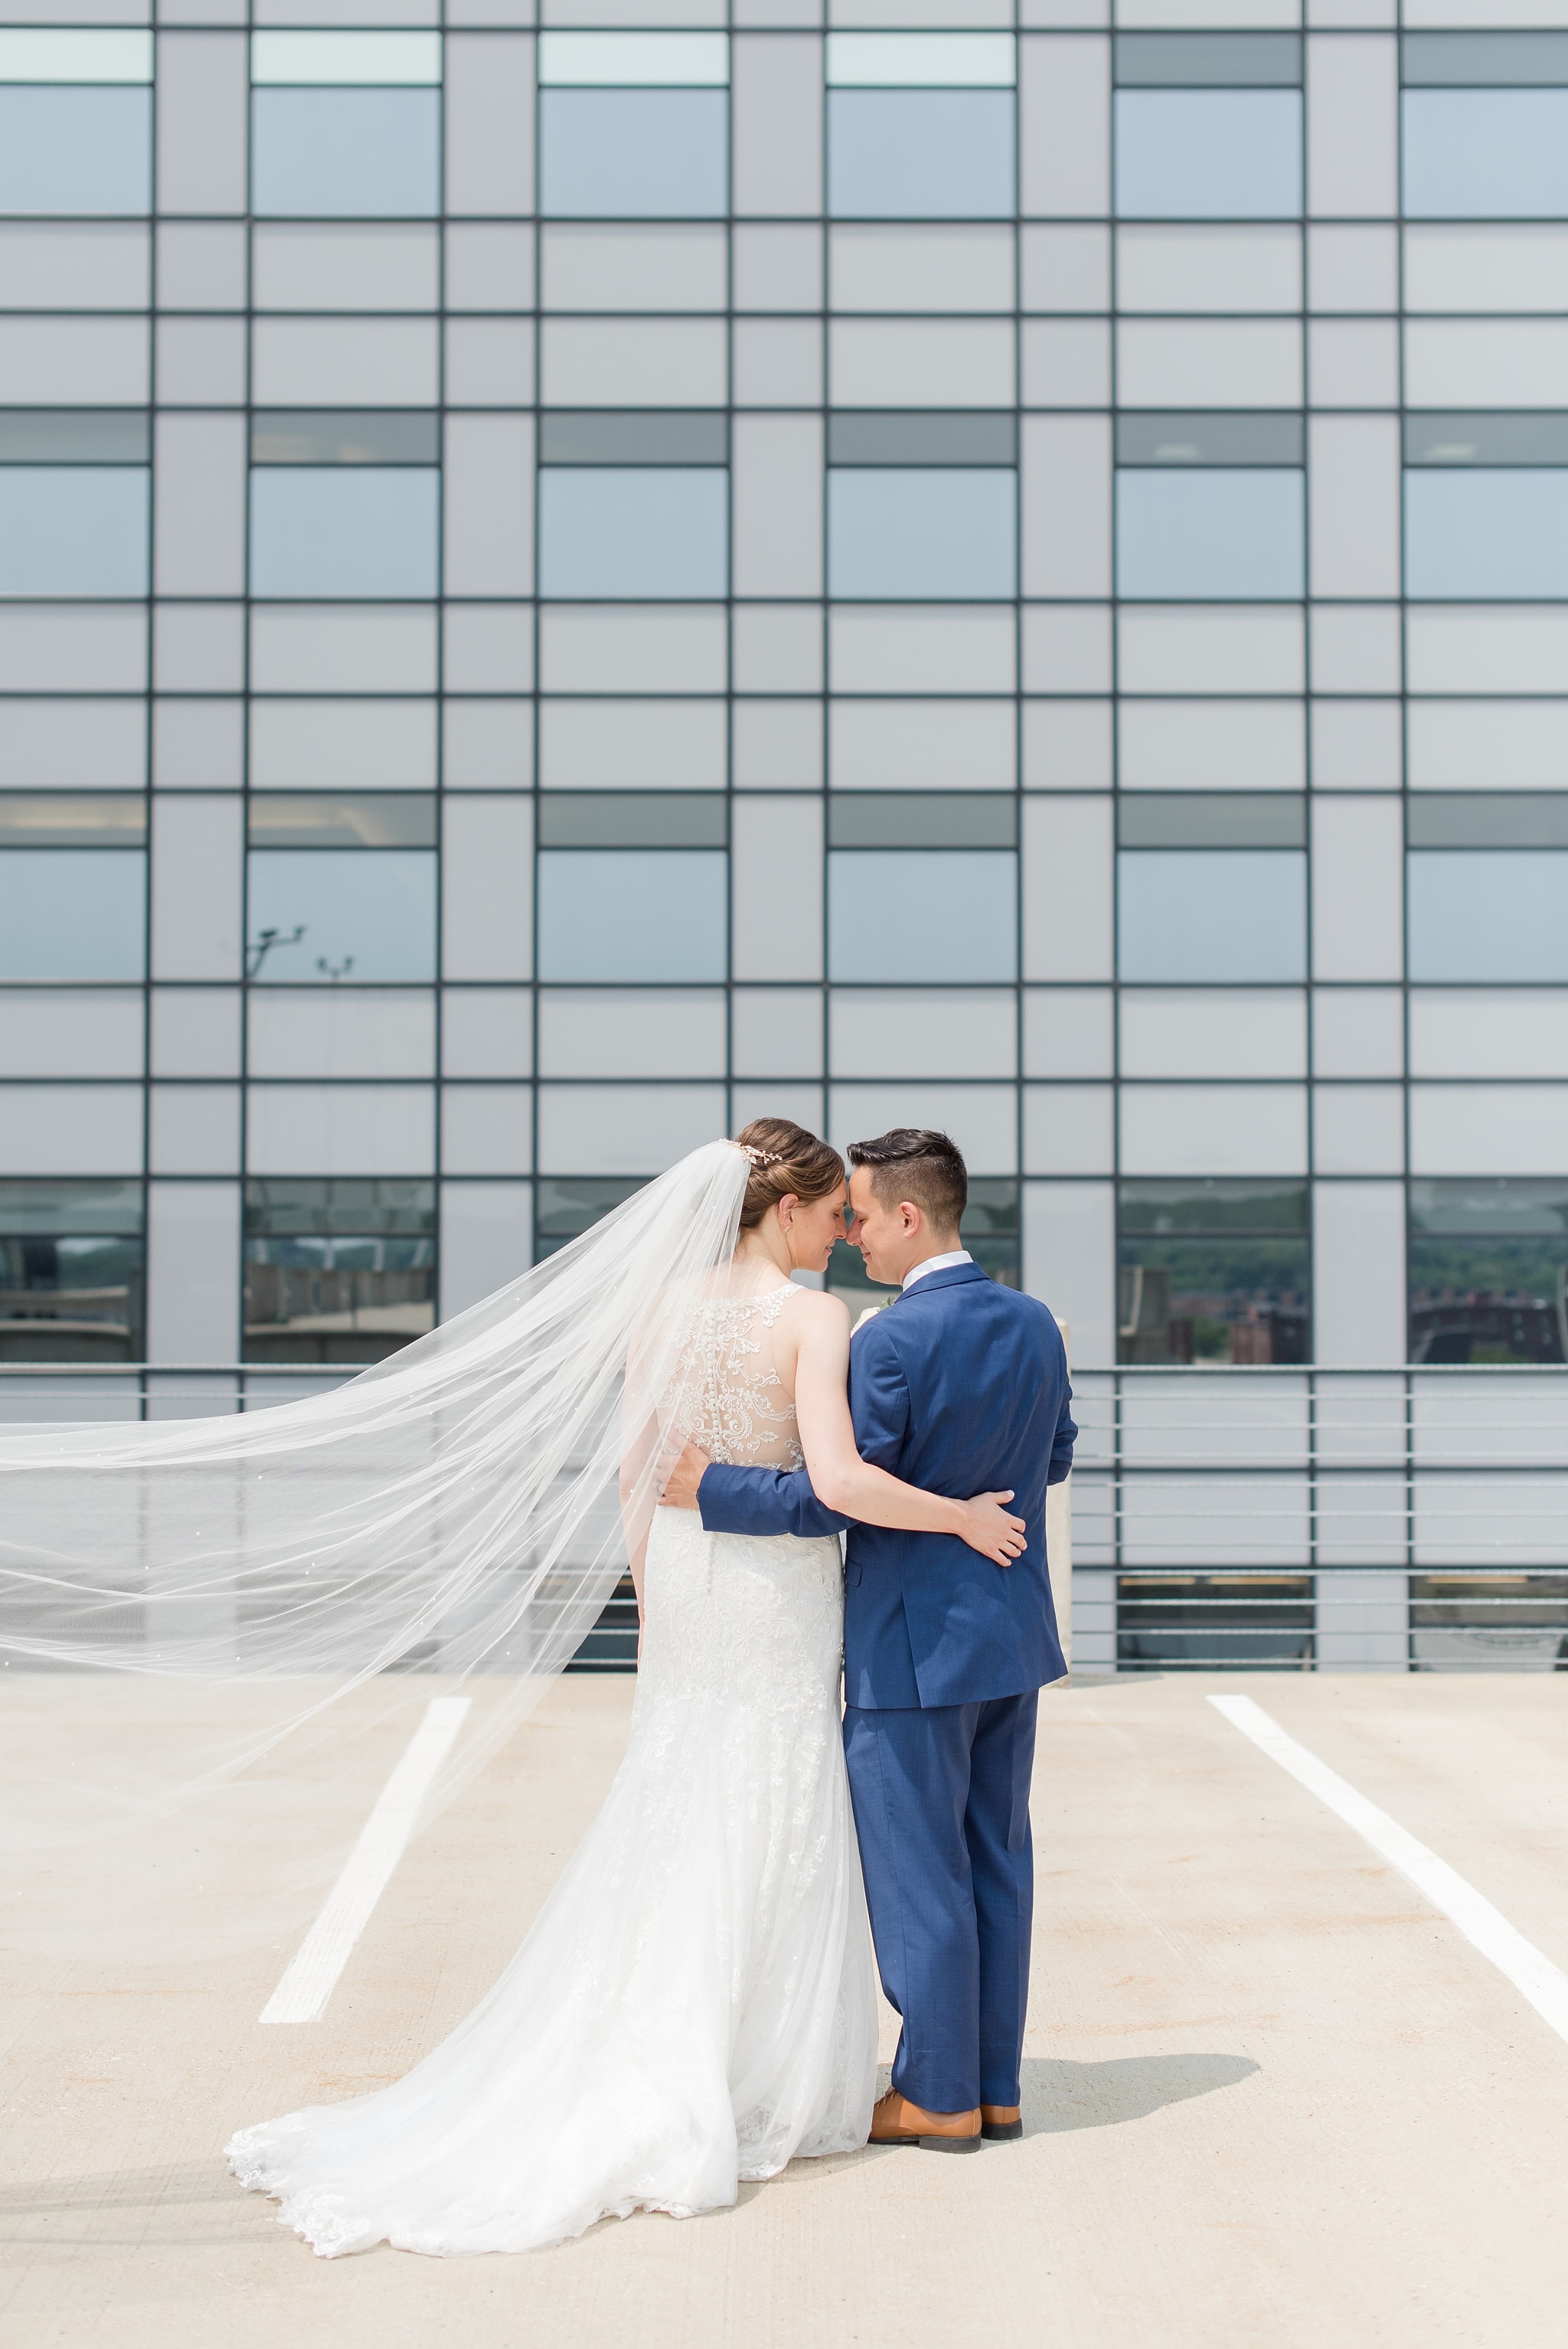
[[[850,1346],[861,1459],[967,1501],[1012,1487],[1028,1548],[998,1567],[958,1534],[901,1534],[824,1508],[805,1468],[704,1470],[716,1534],[836,1534],[845,1557],[845,1701],[972,1705],[1061,1680],[1045,1487],[1073,1466],[1061,1332],[1035,1297],[953,1264],[904,1290]]]

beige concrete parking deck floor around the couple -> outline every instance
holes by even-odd
[[[624,1736],[627,1682],[563,1682],[408,1849],[324,2022],[258,2027],[277,1950],[7,1961],[7,2342],[1561,2342],[1568,2044],[1209,1689],[1256,1696],[1568,1966],[1568,1682],[1061,1689],[1021,2145],[796,2163],[735,2210],[509,2260],[317,2260],[218,2149],[394,2077],[505,1964]]]

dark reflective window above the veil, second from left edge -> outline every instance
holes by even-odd
[[[244,1360],[380,1362],[434,1327],[430,1182],[249,1182]]]

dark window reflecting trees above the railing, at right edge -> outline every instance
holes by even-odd
[[[1568,1182],[1411,1184],[1411,1360],[1568,1360]]]

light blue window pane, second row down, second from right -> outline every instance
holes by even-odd
[[[1129,597],[1298,597],[1303,477],[1249,467],[1120,472],[1117,590]]]

